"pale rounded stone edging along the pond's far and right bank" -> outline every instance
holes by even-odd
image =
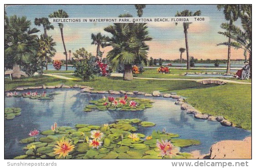
[[[209,81],[207,81],[207,84],[212,84],[212,82],[215,83],[215,81],[216,80],[209,80]],[[200,81],[200,82],[202,82],[204,84],[204,81]],[[221,84],[225,84],[225,83],[221,83]],[[180,105],[181,106],[180,109],[186,110],[187,114],[193,114],[194,118],[196,118],[196,119],[207,119],[208,121],[217,121],[217,122],[220,122],[220,124],[223,125],[223,126],[228,126],[228,127],[233,126],[233,127],[235,127],[235,125],[233,125],[232,122],[228,121],[223,116],[212,116],[212,115],[209,115],[209,114],[201,113],[200,111],[195,109],[192,105],[186,103],[185,98],[183,98],[182,96],[177,95],[177,93],[175,93],[175,92],[172,92],[170,94],[161,94],[160,91],[153,91],[152,94],[146,94],[146,93],[140,92],[140,91],[133,91],[133,92],[129,92],[129,91],[126,92],[124,90],[120,90],[120,91],[115,91],[115,90],[98,91],[98,90],[94,90],[94,88],[89,87],[89,86],[82,86],[82,85],[68,86],[68,85],[64,85],[64,84],[58,84],[56,86],[54,86],[54,85],[53,86],[42,85],[42,86],[35,86],[35,87],[18,87],[16,89],[14,89],[13,91],[23,91],[23,90],[26,90],[26,89],[60,89],[60,88],[63,88],[63,89],[80,88],[80,89],[82,89],[81,92],[92,93],[92,94],[115,94],[115,95],[127,94],[127,95],[143,95],[143,96],[164,97],[164,98],[177,99],[177,101],[174,104]]]

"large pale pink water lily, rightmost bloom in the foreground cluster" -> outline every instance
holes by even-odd
[[[162,157],[164,156],[176,156],[177,153],[179,152],[178,148],[173,146],[173,144],[168,141],[168,140],[162,140],[162,143],[160,141],[157,140],[157,148],[160,149],[160,155]]]

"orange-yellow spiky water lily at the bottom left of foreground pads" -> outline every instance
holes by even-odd
[[[72,145],[68,140],[57,141],[58,145],[55,145],[54,154],[59,155],[59,157],[66,157],[69,152],[72,152],[75,148],[75,145]]]

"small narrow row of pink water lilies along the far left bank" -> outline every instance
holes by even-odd
[[[7,97],[16,97],[16,98],[29,98],[29,99],[53,99],[52,95],[58,94],[58,93],[51,93],[47,94],[46,91],[44,91],[42,94],[36,92],[24,92],[24,93],[18,93],[18,92],[8,92],[6,94]]]

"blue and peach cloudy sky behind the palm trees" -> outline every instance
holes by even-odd
[[[129,13],[137,17],[134,5],[11,5],[6,7],[7,15],[26,16],[31,20],[31,27],[43,32],[42,26],[34,25],[34,19],[48,17],[53,11],[63,9],[69,17],[117,17],[120,14]],[[188,29],[188,44],[190,56],[198,59],[226,59],[227,47],[217,46],[220,42],[227,41],[217,32],[222,31],[220,24],[226,22],[223,11],[218,11],[216,5],[146,5],[142,17],[172,17],[177,11],[191,10],[195,12],[201,10],[201,16],[208,16],[210,21],[205,23],[193,23]],[[236,21],[240,25],[240,20]],[[55,29],[49,30],[48,35],[57,43],[57,50],[54,59],[64,59],[64,49],[61,40],[60,30],[57,24],[53,24]],[[109,23],[79,23],[64,25],[64,39],[67,50],[75,52],[76,49],[84,47],[93,54],[96,53],[96,46],[92,45],[91,34],[101,32],[104,35],[104,27]],[[149,57],[163,59],[178,59],[179,48],[185,48],[185,39],[182,24],[174,23],[150,23],[148,24],[149,34],[153,40],[147,42],[150,46]],[[40,33],[39,33],[40,35]],[[111,49],[107,47],[101,49],[104,56]],[[183,55],[185,57],[185,54]],[[243,59],[243,51],[232,49],[231,59]]]

